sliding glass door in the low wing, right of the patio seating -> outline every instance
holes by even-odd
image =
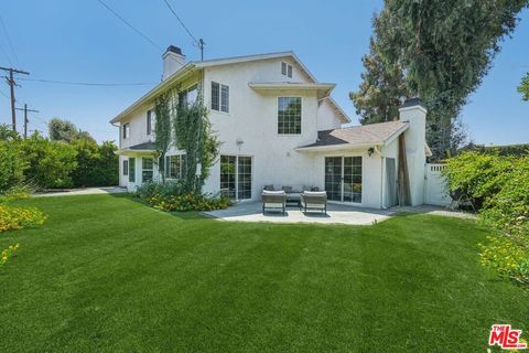
[[[331,201],[361,203],[361,157],[326,157],[325,191]]]

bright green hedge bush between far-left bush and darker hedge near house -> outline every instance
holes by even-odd
[[[25,176],[40,188],[71,188],[72,173],[77,168],[77,152],[71,145],[50,141],[33,133],[22,143],[24,159],[29,162]]]

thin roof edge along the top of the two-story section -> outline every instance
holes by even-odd
[[[296,65],[301,68],[302,72],[306,74],[306,76],[312,81],[313,83],[317,83],[316,78],[311,74],[311,72],[303,65],[303,63],[300,61],[300,58],[294,54],[292,51],[287,51],[287,52],[277,52],[277,53],[268,53],[268,54],[257,54],[257,55],[244,55],[244,56],[231,56],[231,57],[223,57],[223,58],[214,58],[214,60],[205,60],[205,61],[192,61],[185,64],[183,67],[181,67],[177,72],[159,83],[156,86],[154,86],[152,89],[150,89],[147,94],[144,94],[140,99],[134,101],[132,105],[130,105],[128,108],[126,108],[123,111],[118,114],[114,119],[110,120],[110,124],[116,124],[121,118],[128,116],[131,114],[133,110],[139,108],[140,106],[151,101],[155,96],[159,94],[165,92],[169,89],[174,83],[176,83],[180,79],[183,79],[191,73],[193,73],[195,69],[204,68],[204,67],[212,67],[212,66],[220,66],[220,65],[230,65],[230,64],[238,64],[238,63],[246,63],[246,62],[252,62],[252,61],[261,61],[261,60],[270,60],[270,58],[280,58],[280,57],[291,57]],[[350,121],[350,119],[345,115],[345,113],[342,110],[341,107],[331,99],[332,105],[336,108],[338,113],[343,115],[343,117],[347,120]]]

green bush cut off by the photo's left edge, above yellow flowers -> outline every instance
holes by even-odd
[[[28,162],[23,157],[19,136],[0,127],[0,193],[24,180]]]

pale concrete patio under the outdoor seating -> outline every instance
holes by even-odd
[[[369,225],[388,220],[395,211],[330,203],[327,215],[319,211],[307,212],[305,215],[295,206],[287,207],[284,215],[281,211],[267,211],[263,215],[260,202],[239,202],[229,208],[204,212],[204,214],[219,221]]]

